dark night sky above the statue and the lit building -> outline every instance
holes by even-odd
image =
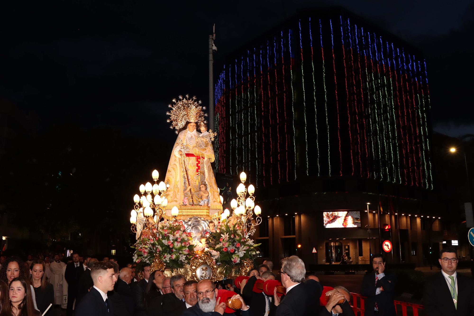
[[[227,54],[298,10],[342,6],[424,52],[434,130],[474,133],[474,1],[9,2],[0,101],[36,115],[40,130],[72,123],[174,141],[164,114],[171,99],[189,93],[208,103],[213,23],[216,78]]]

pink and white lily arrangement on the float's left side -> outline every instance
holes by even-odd
[[[158,230],[142,234],[137,243],[132,246],[136,251],[133,260],[137,263],[146,261],[152,263],[155,256],[166,268],[179,269],[189,264],[193,257],[194,245],[191,244],[191,232],[185,232],[182,221],[166,221],[159,223]]]

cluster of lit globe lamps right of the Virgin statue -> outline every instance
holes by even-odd
[[[246,187],[246,180],[247,175],[245,172],[242,172],[240,174],[240,181],[242,183],[237,186],[237,200],[232,199],[230,207],[234,210],[233,215],[242,223],[242,227],[245,229],[246,236],[248,237],[254,234],[255,226],[262,223],[262,217],[260,217],[262,209],[260,206],[255,205],[255,186],[249,184]],[[226,211],[228,213],[226,209],[223,214],[226,214]]]

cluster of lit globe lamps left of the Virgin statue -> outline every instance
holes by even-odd
[[[137,232],[137,222],[140,225],[138,230],[141,230],[144,223],[147,227],[156,227],[165,213],[164,208],[168,205],[165,194],[169,185],[165,185],[163,181],[157,183],[158,176],[158,171],[153,170],[152,178],[155,184],[152,186],[150,182],[147,182],[146,185],[140,185],[141,196],[136,194],[133,197],[135,205],[130,212],[132,232]]]

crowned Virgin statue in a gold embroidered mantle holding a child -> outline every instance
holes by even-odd
[[[214,161],[214,149],[208,137],[200,137],[196,124],[204,121],[201,102],[195,102],[195,97],[179,101],[173,100],[173,110],[168,122],[176,129],[178,137],[174,142],[170,162],[166,171],[164,183],[169,185],[166,191],[168,205],[166,215],[171,216],[171,209],[181,205],[202,205],[209,207],[209,215],[222,211],[219,198],[219,188],[216,184],[211,162]]]

